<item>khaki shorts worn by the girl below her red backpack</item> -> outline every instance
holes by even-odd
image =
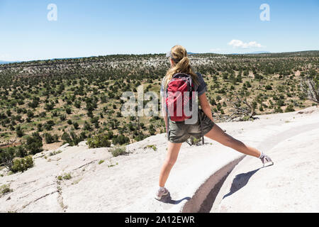
[[[169,142],[184,143],[191,136],[199,139],[211,131],[215,123],[201,109],[198,110],[198,117],[201,117],[201,123],[198,118],[197,123],[193,125],[185,124],[184,121],[177,122],[169,119],[169,131],[167,133]],[[201,124],[203,132],[201,131]]]

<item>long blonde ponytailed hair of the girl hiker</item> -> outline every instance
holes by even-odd
[[[166,73],[164,77],[164,89],[167,88],[167,84],[172,79],[174,74],[186,73],[191,75],[194,83],[198,85],[198,75],[192,70],[189,65],[189,57],[187,57],[187,51],[181,45],[175,45],[171,49],[171,58],[175,63]]]

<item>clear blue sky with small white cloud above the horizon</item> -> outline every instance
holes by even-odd
[[[49,4],[57,21],[47,20]],[[259,18],[262,4],[270,21]],[[0,60],[163,53],[176,44],[190,52],[319,50],[318,12],[319,0],[0,0]]]

